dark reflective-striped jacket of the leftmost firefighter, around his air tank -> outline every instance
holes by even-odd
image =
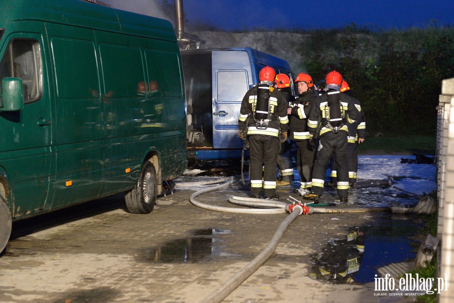
[[[254,120],[254,110],[257,104],[257,86],[249,89],[243,97],[238,119],[239,129],[244,131],[247,126],[247,135],[265,135],[278,137],[280,132],[287,132],[289,129],[289,118],[287,108],[289,104],[282,98],[277,88],[269,87],[269,113],[270,119],[266,128],[257,127]],[[247,125],[246,125],[247,124]]]

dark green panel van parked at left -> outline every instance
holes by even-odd
[[[131,213],[186,168],[170,22],[83,0],[0,0],[0,252],[12,222],[125,192]]]

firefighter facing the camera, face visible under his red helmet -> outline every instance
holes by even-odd
[[[315,138],[311,138],[308,128],[308,116],[312,104],[318,96],[314,88],[312,77],[301,73],[295,79],[298,97],[288,109],[290,115],[290,139],[297,143],[296,163],[300,174],[300,188],[296,190],[300,195],[310,193],[312,168],[315,160]]]

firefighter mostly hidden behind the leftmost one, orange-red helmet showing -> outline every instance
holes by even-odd
[[[277,89],[282,93],[283,99],[291,106],[295,101],[295,96],[290,88],[290,78],[286,74],[277,74],[274,78]],[[277,186],[290,185],[295,180],[292,162],[292,142],[286,140],[280,145],[280,153],[277,156],[277,166],[279,167],[279,177]]]

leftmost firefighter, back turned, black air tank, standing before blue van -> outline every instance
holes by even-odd
[[[280,143],[287,140],[288,103],[278,89],[274,89],[274,69],[260,70],[260,83],[249,89],[241,103],[238,135],[249,139],[251,197],[278,199],[276,166]],[[263,181],[262,181],[263,167]]]

